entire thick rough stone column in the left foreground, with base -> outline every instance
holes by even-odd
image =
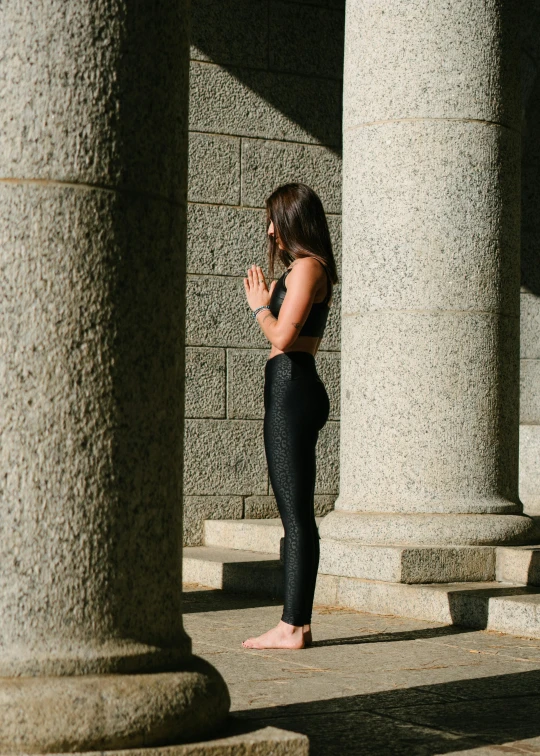
[[[207,737],[182,627],[188,15],[0,7],[0,751]]]

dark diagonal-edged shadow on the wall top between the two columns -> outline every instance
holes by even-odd
[[[345,0],[192,0],[192,56],[340,153],[344,12]]]

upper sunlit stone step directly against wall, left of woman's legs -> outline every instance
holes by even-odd
[[[282,537],[283,525],[280,519],[204,521],[205,546],[278,556]]]

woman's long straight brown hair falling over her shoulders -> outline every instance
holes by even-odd
[[[314,257],[326,267],[333,284],[337,284],[336,261],[322,202],[306,184],[284,184],[266,200],[267,228],[274,224],[274,236],[268,237],[268,272],[274,278],[276,258],[286,268],[298,257]],[[284,249],[278,245],[278,236]]]

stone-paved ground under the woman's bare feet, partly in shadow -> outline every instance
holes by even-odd
[[[313,648],[251,651],[278,602],[185,589],[194,652],[246,725],[305,733],[314,756],[540,754],[540,641],[319,607]]]

